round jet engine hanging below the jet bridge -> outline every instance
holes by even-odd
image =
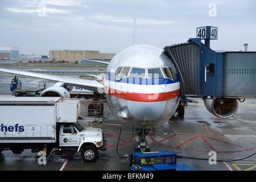
[[[204,100],[207,110],[219,118],[229,118],[236,114],[238,102],[235,99],[216,98],[215,100]]]

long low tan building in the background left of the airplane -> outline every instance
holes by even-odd
[[[68,61],[69,63],[81,63],[82,59],[111,60],[115,53],[100,53],[100,51],[86,50],[50,50],[49,60]],[[90,63],[91,64],[91,63]]]

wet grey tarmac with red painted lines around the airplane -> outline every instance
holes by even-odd
[[[0,73],[0,95],[3,97],[10,96],[9,77],[13,75]],[[23,87],[28,79],[33,83],[39,81],[23,77]],[[237,113],[228,119],[215,117],[205,109],[203,100],[195,100],[199,103],[185,106],[184,118],[172,118],[156,128],[155,136],[147,135],[151,151],[174,151],[177,163],[185,163],[196,171],[256,171],[256,100],[239,103]],[[81,102],[85,111],[90,100],[82,98]],[[81,117],[82,126],[101,128],[108,142],[106,151],[100,151],[96,162],[84,163],[80,154],[51,154],[43,165],[38,163],[40,156],[31,150],[24,150],[19,155],[3,151],[0,171],[127,171],[129,159],[126,156],[138,146],[138,136],[131,134],[130,127],[121,125],[106,102],[102,123],[91,122],[90,119],[94,119],[86,117],[86,111]]]

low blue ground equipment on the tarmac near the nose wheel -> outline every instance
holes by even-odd
[[[177,164],[177,155],[170,151],[130,154],[129,171],[195,171],[184,163]]]

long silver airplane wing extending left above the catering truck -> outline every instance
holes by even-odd
[[[78,86],[80,88],[91,90],[93,92],[104,93],[104,84],[96,80],[85,80],[82,78],[73,78],[73,77],[67,77],[67,76],[53,76],[53,75],[47,75],[42,73],[31,73],[26,71],[16,71],[16,70],[3,69],[3,68],[0,68],[0,71],[6,72],[6,73],[13,73],[15,75],[24,75],[24,76],[42,78],[45,80],[63,82],[64,84],[71,84],[73,86]]]

